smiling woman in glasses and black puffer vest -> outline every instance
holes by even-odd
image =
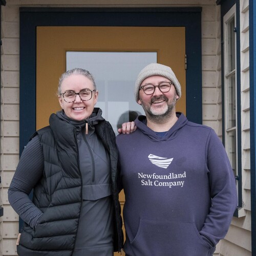
[[[62,111],[50,116],[50,125],[32,136],[20,157],[8,191],[10,204],[25,221],[17,241],[20,256],[121,251],[115,134],[94,108],[97,99],[88,71],[63,73],[58,86]]]

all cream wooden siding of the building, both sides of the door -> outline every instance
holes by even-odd
[[[60,4],[61,2],[61,4]],[[244,0],[245,8],[241,10],[248,24],[248,8]],[[88,0],[84,5],[83,0],[8,0],[2,7],[2,81],[1,81],[1,169],[2,187],[0,187],[0,204],[4,205],[4,216],[0,218],[0,255],[16,255],[16,238],[18,233],[18,216],[8,202],[7,191],[15,172],[19,159],[19,7],[202,7],[202,92],[203,92],[203,123],[211,126],[217,134],[222,136],[221,129],[221,25],[220,7],[215,0],[110,0],[108,4],[104,0]],[[242,5],[241,5],[242,8]],[[247,15],[247,16],[246,16]],[[243,23],[241,22],[241,25]],[[247,25],[248,28],[248,25]],[[242,31],[242,29],[241,29]],[[242,54],[247,58],[248,66],[248,29],[242,32],[245,47],[241,46]],[[242,38],[242,35],[241,35]],[[247,41],[246,41],[247,40]],[[247,45],[246,45],[247,42]],[[188,59],[189,61],[189,59]],[[243,142],[249,141],[249,75],[248,69],[242,69],[245,81],[243,92],[242,121]],[[22,136],[22,135],[20,135]],[[243,144],[243,169],[245,176],[249,178],[249,145]],[[244,184],[244,198],[248,214],[243,220],[236,219],[232,222],[232,229],[225,240],[218,244],[216,254],[223,255],[247,255],[244,253],[232,253],[237,250],[237,244],[241,250],[250,250],[250,215],[249,215],[249,179]],[[1,220],[2,219],[2,220]],[[245,241],[241,236],[242,232]],[[1,237],[3,238],[1,240]],[[239,239],[238,239],[239,237]],[[247,245],[247,244],[248,245]],[[231,249],[234,248],[234,249]],[[243,249],[244,248],[244,249]]]

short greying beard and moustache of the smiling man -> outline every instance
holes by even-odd
[[[140,99],[141,100],[141,99]],[[157,100],[164,100],[166,104],[161,106],[161,108],[154,108],[154,101]],[[152,97],[150,103],[145,103],[141,100],[142,108],[145,111],[146,117],[150,118],[151,120],[161,122],[166,118],[172,116],[172,113],[175,109],[176,105],[176,93],[174,98],[171,102],[168,102],[168,98],[165,95],[161,95],[160,97]]]

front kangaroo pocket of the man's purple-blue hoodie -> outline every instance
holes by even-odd
[[[129,245],[127,246],[129,254]],[[141,219],[131,242],[131,255],[206,256],[209,247],[201,238],[195,223]]]

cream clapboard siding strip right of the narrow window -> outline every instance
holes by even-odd
[[[240,1],[240,57],[241,57],[241,142],[242,142],[242,199],[239,218],[233,218],[221,252],[226,255],[251,255],[250,205],[250,88],[249,88],[249,1]],[[238,63],[239,65],[239,63]]]

